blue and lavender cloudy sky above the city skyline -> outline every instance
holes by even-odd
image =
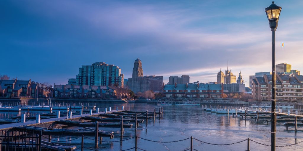
[[[216,82],[222,69],[249,85],[271,71],[269,0],[2,0],[0,75],[66,84],[79,67],[114,64],[125,79],[135,59],[144,75]],[[276,64],[303,72],[303,1],[277,0]],[[281,43],[284,42],[284,47]]]

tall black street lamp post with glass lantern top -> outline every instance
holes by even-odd
[[[275,31],[278,27],[278,20],[281,12],[281,7],[272,2],[268,8],[265,8],[266,16],[269,21],[269,27],[272,31],[272,62],[271,62],[271,151],[275,151],[276,137],[276,72],[275,72]]]

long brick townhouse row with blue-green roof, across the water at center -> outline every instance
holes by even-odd
[[[164,97],[222,98],[223,84],[164,85]]]

